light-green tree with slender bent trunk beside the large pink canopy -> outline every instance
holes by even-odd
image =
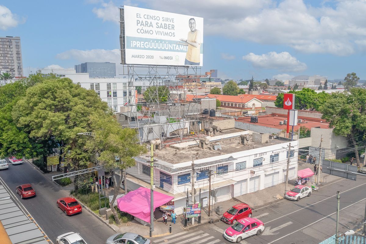
[[[98,153],[99,164],[111,173],[115,188],[110,206],[116,223],[119,224],[118,213],[112,206],[119,194],[123,177],[122,175],[117,177],[115,171],[119,169],[122,173],[123,170],[135,166],[134,157],[146,153],[146,146],[139,144],[138,135],[134,129],[122,128],[112,115],[93,113],[90,116],[90,124],[95,137],[86,143],[84,150]]]

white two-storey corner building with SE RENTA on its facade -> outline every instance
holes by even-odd
[[[223,132],[216,130],[215,134],[205,135],[199,142],[189,140],[155,151],[155,190],[174,197],[177,214],[186,206],[187,190],[191,192],[192,189],[191,180],[194,180],[196,190],[195,202],[201,202],[203,207],[208,205],[209,170],[213,175],[212,204],[285,181],[289,142],[236,128]],[[298,169],[298,142],[292,141],[291,146],[288,178],[294,179]],[[150,157],[137,157],[135,161],[136,165],[127,169],[128,190],[149,187]],[[191,196],[189,199],[191,201]]]

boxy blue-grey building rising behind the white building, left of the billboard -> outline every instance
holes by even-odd
[[[88,73],[89,78],[115,78],[116,63],[86,62],[75,65],[76,73]]]

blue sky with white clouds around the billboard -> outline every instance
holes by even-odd
[[[3,0],[0,36],[20,37],[25,75],[88,61],[120,63],[120,5],[203,17],[202,73],[343,79],[355,72],[366,79],[365,0]]]

